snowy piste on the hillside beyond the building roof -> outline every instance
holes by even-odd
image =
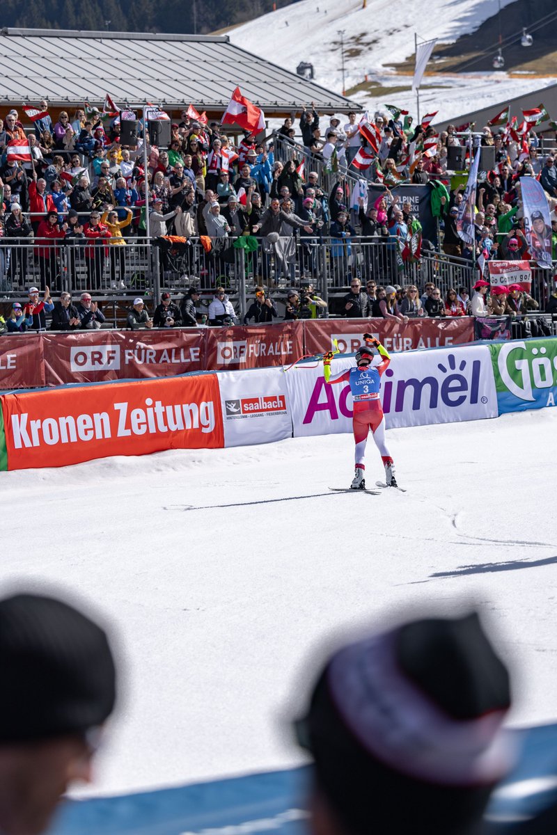
[[[501,8],[514,0],[501,0]],[[498,0],[301,0],[230,30],[232,43],[296,71],[301,60],[313,63],[316,83],[342,90],[341,38],[344,30],[346,89],[367,76],[386,87],[411,87],[412,78],[389,67],[413,56],[414,33],[418,38],[438,38],[452,43],[471,33],[497,13]],[[287,25],[286,25],[287,24]],[[357,53],[357,54],[353,54]],[[478,106],[513,98],[554,83],[554,78],[509,78],[507,73],[462,73],[426,76],[420,92],[421,113],[438,109],[438,119],[452,119]],[[433,88],[433,89],[432,89]],[[366,109],[397,104],[415,113],[416,98],[410,89],[374,96],[353,94]],[[309,104],[307,102],[306,104]]]

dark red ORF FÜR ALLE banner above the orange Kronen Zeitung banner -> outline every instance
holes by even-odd
[[[205,368],[201,329],[44,332],[42,338],[48,386],[172,377]]]

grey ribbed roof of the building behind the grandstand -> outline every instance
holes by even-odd
[[[131,108],[145,102],[221,111],[236,86],[265,114],[315,102],[347,113],[356,102],[230,43],[227,35],[0,30],[0,101],[99,103],[108,93]]]

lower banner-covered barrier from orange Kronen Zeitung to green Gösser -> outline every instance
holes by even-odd
[[[353,365],[337,357],[332,372]],[[387,428],[554,406],[557,337],[401,352],[382,378]],[[0,397],[0,469],[271,443],[352,431],[350,387],[321,363],[186,374]]]

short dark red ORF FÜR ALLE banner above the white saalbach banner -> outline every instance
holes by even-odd
[[[303,353],[303,322],[210,328],[205,367],[236,371],[289,365]]]

